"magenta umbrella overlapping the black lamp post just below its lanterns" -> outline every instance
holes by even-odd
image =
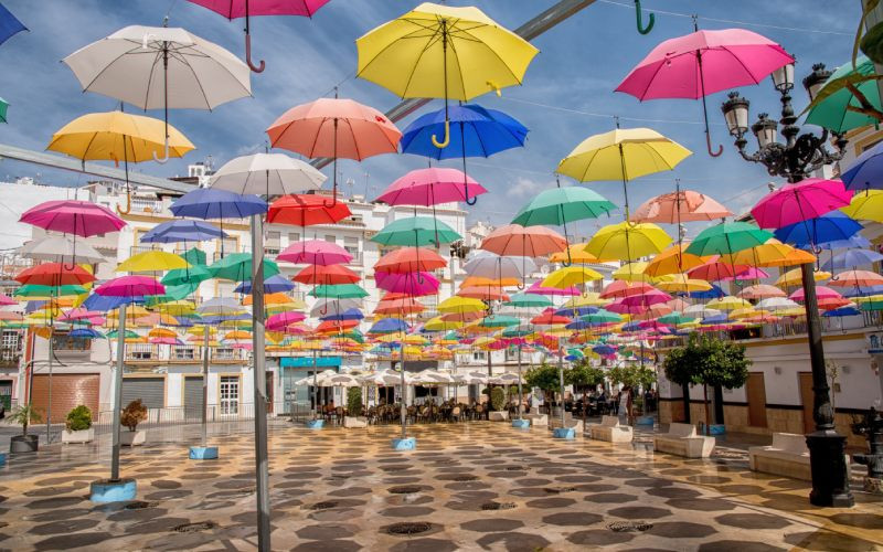
[[[764,195],[752,216],[762,229],[780,229],[847,206],[851,199],[852,192],[840,180],[808,178]]]

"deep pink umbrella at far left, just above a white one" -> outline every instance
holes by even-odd
[[[43,202],[25,211],[19,222],[83,237],[117,232],[126,225],[106,206],[75,200]]]

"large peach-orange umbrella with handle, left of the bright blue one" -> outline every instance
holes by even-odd
[[[385,115],[352,99],[319,98],[292,107],[268,128],[270,146],[309,158],[333,159],[333,201],[338,202],[339,158],[361,161],[397,152],[402,132]]]

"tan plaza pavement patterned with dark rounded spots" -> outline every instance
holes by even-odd
[[[389,448],[395,427],[270,433],[276,550],[883,550],[883,501],[815,509],[808,484],[755,475],[744,447],[711,459],[634,445],[553,439],[488,422],[413,428],[418,450]],[[0,548],[252,550],[253,440],[216,437],[220,460],[187,444],[124,450],[138,500],[98,506],[100,445],[67,445],[0,470]]]

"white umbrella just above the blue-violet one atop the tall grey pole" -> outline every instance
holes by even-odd
[[[227,161],[212,174],[211,187],[269,198],[318,190],[326,179],[311,164],[285,153],[255,153]]]

